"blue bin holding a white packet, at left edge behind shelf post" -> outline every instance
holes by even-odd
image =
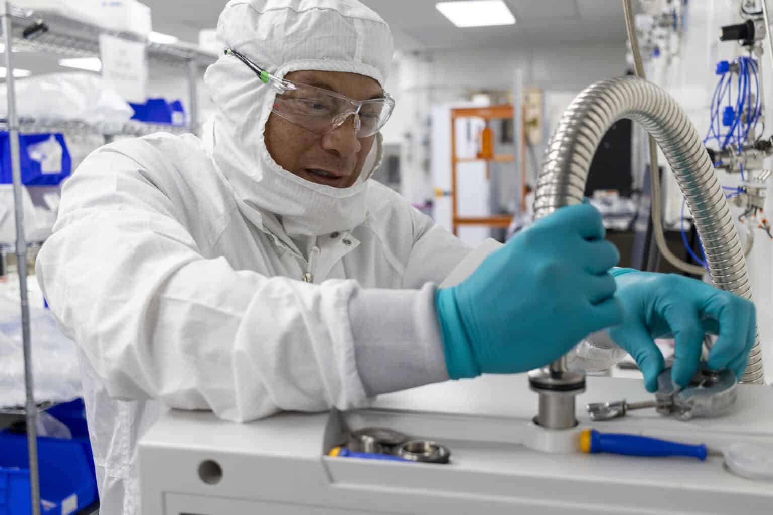
[[[20,134],[19,158],[26,186],[56,186],[72,172],[70,151],[62,134]],[[0,132],[0,184],[12,183],[9,136]]]

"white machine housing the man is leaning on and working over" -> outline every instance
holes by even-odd
[[[577,418],[591,426],[587,402],[621,398],[652,395],[642,381],[589,377]],[[535,451],[523,445],[535,414],[536,395],[523,374],[414,388],[352,412],[284,413],[249,424],[172,411],[140,442],[141,513],[708,515],[770,513],[773,506],[773,483],[734,476],[720,457]],[[373,426],[448,446],[451,463],[326,456],[346,430]],[[724,418],[679,422],[644,410],[593,426],[720,449],[751,442],[773,452],[773,388],[739,385],[736,409]],[[214,477],[207,465],[217,469]]]

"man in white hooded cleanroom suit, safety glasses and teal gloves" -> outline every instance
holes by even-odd
[[[232,0],[206,72],[203,137],[91,154],[67,182],[37,276],[80,347],[104,515],[138,513],[136,444],[167,408],[236,422],[363,405],[449,378],[547,364],[592,331],[655,388],[744,370],[751,303],[684,277],[611,269],[601,216],[574,205],[438,289],[470,249],[369,180],[393,46],[356,0]],[[147,514],[151,515],[151,514]]]

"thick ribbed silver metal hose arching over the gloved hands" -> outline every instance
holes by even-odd
[[[744,251],[706,148],[676,100],[645,80],[602,80],[587,87],[567,107],[550,138],[537,180],[534,218],[583,202],[596,147],[621,118],[642,124],[666,154],[693,213],[714,286],[751,300]],[[554,362],[551,368],[561,371],[564,361]],[[762,383],[763,379],[758,333],[741,381]]]

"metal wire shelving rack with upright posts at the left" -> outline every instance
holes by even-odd
[[[6,95],[8,115],[0,120],[0,130],[7,131],[11,151],[13,198],[15,212],[15,255],[19,275],[19,302],[22,313],[22,349],[24,353],[24,382],[26,403],[24,407],[0,410],[5,414],[25,415],[27,442],[29,446],[30,500],[32,514],[40,514],[40,489],[37,452],[36,418],[45,409],[46,403],[36,404],[32,378],[32,356],[30,347],[29,300],[27,292],[27,251],[28,243],[24,233],[22,211],[22,178],[19,158],[19,134],[61,132],[63,134],[102,134],[106,140],[115,136],[142,136],[159,130],[182,134],[199,129],[197,79],[203,69],[213,63],[216,56],[197,46],[186,43],[160,44],[131,32],[105,29],[91,22],[84,22],[54,12],[36,12],[29,8],[13,5],[0,0],[0,28],[5,46]],[[169,69],[182,69],[188,82],[188,109],[186,126],[167,124],[144,124],[131,121],[122,127],[86,124],[79,121],[29,120],[20,119],[16,108],[15,78],[12,70],[13,49],[29,52],[52,53],[67,57],[94,57],[100,55],[100,35],[143,42],[147,48],[148,63],[162,65]]]

